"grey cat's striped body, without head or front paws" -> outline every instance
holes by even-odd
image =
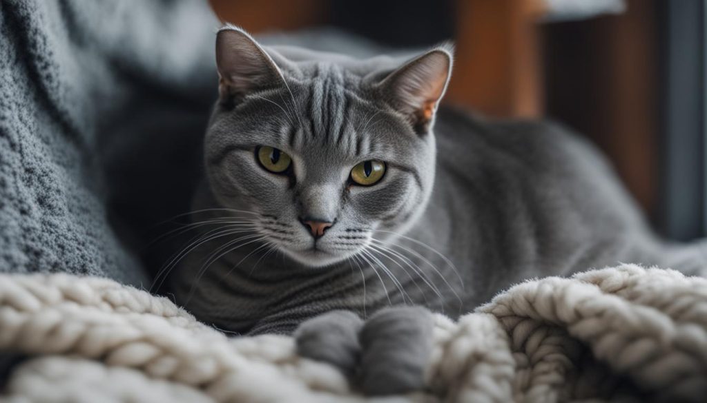
[[[332,309],[370,315],[389,305],[388,297],[393,305],[412,302],[455,316],[531,277],[619,262],[679,262],[677,251],[653,236],[604,158],[560,126],[443,109],[436,137],[435,186],[423,215],[391,246],[404,255],[397,263],[391,253],[375,253],[380,263],[358,258],[313,269],[281,253],[262,258],[267,249],[253,252],[262,246],[255,242],[223,255],[197,282],[197,269],[223,245],[214,241],[183,260],[180,301],[224,330],[291,332]],[[201,186],[194,210],[221,207]],[[234,270],[239,262],[252,272]]]

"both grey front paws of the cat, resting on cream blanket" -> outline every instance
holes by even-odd
[[[301,356],[339,368],[366,395],[421,390],[432,349],[433,317],[426,308],[385,308],[365,323],[348,311],[307,320],[295,332]]]

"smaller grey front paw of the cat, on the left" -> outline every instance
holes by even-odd
[[[300,356],[329,363],[351,378],[358,366],[363,320],[353,312],[331,311],[302,323],[294,337]]]

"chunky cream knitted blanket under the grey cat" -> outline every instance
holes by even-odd
[[[108,279],[0,276],[0,402],[703,401],[707,279],[635,265],[509,289],[436,316],[426,390],[366,399],[284,336],[229,338]]]

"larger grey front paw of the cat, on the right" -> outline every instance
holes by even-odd
[[[423,389],[432,331],[432,314],[420,306],[385,308],[368,319],[358,336],[363,392],[392,395]]]

